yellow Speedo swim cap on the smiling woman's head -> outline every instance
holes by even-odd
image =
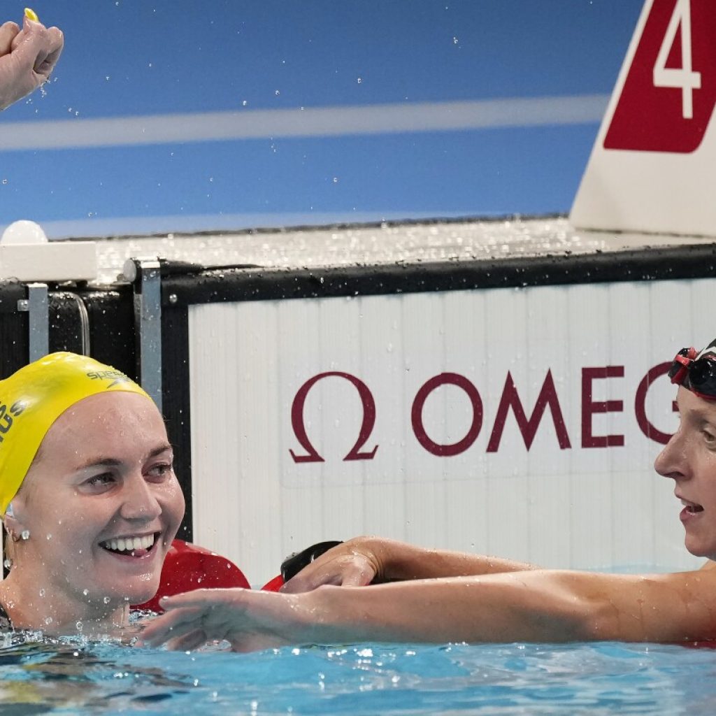
[[[49,354],[0,380],[0,515],[20,489],[52,423],[82,398],[106,390],[149,398],[124,373],[74,353]]]

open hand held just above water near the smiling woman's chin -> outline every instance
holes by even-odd
[[[300,596],[251,589],[197,589],[165,597],[164,614],[152,619],[137,646],[196,649],[226,640],[235,652],[311,641],[314,616]]]

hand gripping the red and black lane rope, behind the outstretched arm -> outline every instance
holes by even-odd
[[[286,594],[312,591],[322,584],[366,586],[382,576],[379,539],[357,537],[317,557],[281,587]]]

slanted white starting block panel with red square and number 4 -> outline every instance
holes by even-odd
[[[716,3],[647,0],[571,221],[716,235]]]

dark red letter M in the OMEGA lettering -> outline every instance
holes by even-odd
[[[549,406],[552,413],[552,422],[554,423],[554,429],[557,433],[557,441],[560,449],[571,448],[551,370],[547,371],[546,378],[542,384],[542,390],[540,391],[529,420],[525,415],[525,410],[522,407],[522,402],[517,393],[512,375],[508,372],[502,397],[500,397],[500,405],[497,409],[497,417],[495,417],[495,425],[492,435],[490,435],[490,442],[488,442],[488,453],[496,453],[500,447],[500,440],[502,439],[505,421],[507,420],[507,414],[510,408],[512,408],[515,414],[515,419],[517,420],[517,425],[525,441],[525,446],[527,450],[529,450],[547,406]]]

